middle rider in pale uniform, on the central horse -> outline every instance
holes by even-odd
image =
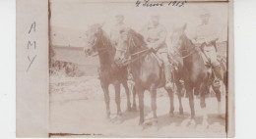
[[[168,89],[173,89],[171,77],[172,67],[168,61],[168,50],[165,43],[167,32],[165,27],[160,24],[160,16],[152,15],[151,22],[143,28],[142,33],[148,47],[154,49],[156,55],[163,62],[166,79],[165,87]]]

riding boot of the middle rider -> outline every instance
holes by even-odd
[[[173,81],[172,81],[172,67],[171,65],[164,65],[164,73],[165,73],[165,88],[166,89],[174,89]]]

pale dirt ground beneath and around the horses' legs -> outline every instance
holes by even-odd
[[[174,116],[170,117],[167,93],[159,89],[157,99],[159,122],[156,130],[150,125],[152,111],[149,92],[145,92],[145,117],[148,124],[142,128],[138,125],[138,97],[137,111],[126,112],[126,95],[123,88],[121,89],[122,116],[119,122],[116,122],[113,86],[109,87],[111,118],[108,120],[105,118],[103,92],[96,76],[51,77],[50,82],[50,132],[70,133],[62,137],[225,137],[225,119],[217,115],[218,103],[213,95],[206,99],[209,127],[203,128],[202,111],[197,97],[195,97],[196,124],[190,125],[188,98],[182,98],[184,114],[179,115],[178,99],[175,95],[175,112]],[[224,95],[222,100],[224,116]],[[58,136],[53,134],[51,137]]]

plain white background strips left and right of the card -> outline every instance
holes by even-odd
[[[255,137],[256,1],[234,1],[235,138]],[[0,1],[0,138],[15,138],[15,0]]]

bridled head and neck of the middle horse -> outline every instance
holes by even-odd
[[[126,65],[134,53],[146,47],[146,43],[141,34],[131,28],[122,29],[120,30],[114,60],[118,65]]]

